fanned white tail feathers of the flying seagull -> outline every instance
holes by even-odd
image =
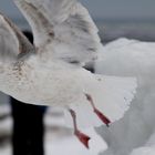
[[[84,104],[73,105],[79,127],[100,126],[123,117],[128,110],[135,90],[136,79],[94,75],[95,81],[87,84]],[[92,100],[92,101],[91,101]],[[93,104],[91,103],[93,102]],[[73,126],[70,113],[65,112],[66,125]]]

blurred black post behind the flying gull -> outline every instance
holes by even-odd
[[[32,34],[24,33],[32,42]],[[11,97],[13,155],[43,155],[44,107],[21,103]]]

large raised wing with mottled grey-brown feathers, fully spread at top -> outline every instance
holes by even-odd
[[[101,48],[97,28],[76,0],[14,0],[28,19],[37,48],[68,62],[94,60]],[[56,48],[53,48],[56,46]],[[46,50],[48,51],[48,50]]]

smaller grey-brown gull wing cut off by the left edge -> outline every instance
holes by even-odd
[[[0,62],[16,61],[19,54],[30,52],[33,45],[22,32],[0,13]]]

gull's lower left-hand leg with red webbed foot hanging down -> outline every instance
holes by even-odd
[[[79,131],[78,125],[76,125],[76,114],[73,110],[69,110],[71,113],[71,116],[73,118],[73,125],[74,125],[74,135],[80,140],[80,142],[82,142],[82,144],[84,144],[84,146],[86,148],[89,148],[89,141],[90,137],[85,134],[83,134],[82,132]]]

